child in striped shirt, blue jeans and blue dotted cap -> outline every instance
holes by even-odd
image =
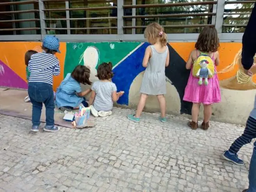
[[[55,53],[59,51],[59,39],[55,36],[46,36],[43,39],[43,52],[31,56],[28,61],[28,71],[30,71],[28,82],[28,95],[33,105],[32,108],[32,129],[39,131],[41,110],[46,108],[46,126],[44,131],[57,132],[59,127],[54,125],[54,94],[53,75],[60,74],[59,60]]]

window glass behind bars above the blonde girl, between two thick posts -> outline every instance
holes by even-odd
[[[206,0],[203,0],[206,1]],[[186,2],[198,2],[198,1],[182,1]],[[177,3],[174,0],[136,0],[137,5],[144,4],[171,4]],[[132,5],[132,0],[124,0],[124,5]],[[213,6],[216,5],[179,5],[179,6],[164,6],[164,7],[146,7],[136,8],[133,13],[132,8],[124,9],[124,16],[136,15],[135,26],[142,26],[142,28],[136,28],[136,34],[143,34],[145,27],[152,22],[158,22],[165,27],[166,33],[198,33],[203,27],[188,27],[187,25],[212,25],[215,21],[211,14],[213,12]],[[180,14],[180,15],[179,15]],[[182,15],[190,14],[190,15]],[[199,15],[191,15],[199,14]],[[157,17],[157,16],[160,17]],[[163,16],[165,15],[165,16]],[[138,16],[142,16],[141,18]],[[134,18],[125,18],[124,26],[132,26],[132,20]],[[170,27],[175,25],[175,27]],[[183,25],[176,27],[176,25]],[[125,28],[124,34],[132,34],[132,28]]]

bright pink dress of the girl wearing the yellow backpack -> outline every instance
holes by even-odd
[[[215,60],[214,53],[212,59]],[[192,75],[192,68],[190,70],[190,75],[188,78],[187,86],[185,88],[183,100],[192,103],[203,103],[204,105],[220,103],[220,85],[217,74],[215,73],[212,78],[208,78],[208,85],[198,85],[199,78],[196,78]]]

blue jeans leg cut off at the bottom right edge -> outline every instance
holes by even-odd
[[[252,158],[249,169],[249,188],[247,192],[256,192],[256,142],[252,152]]]

